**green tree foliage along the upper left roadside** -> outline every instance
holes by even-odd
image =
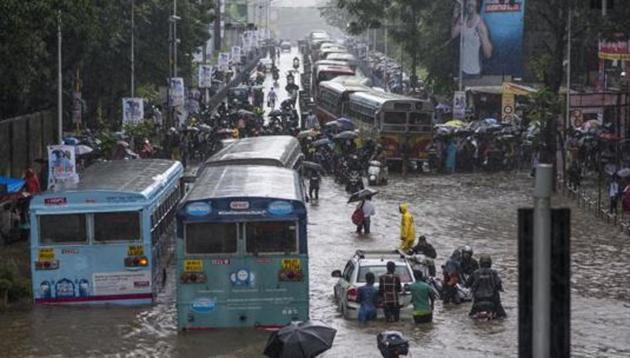
[[[178,74],[191,77],[193,53],[209,39],[211,0],[180,0]],[[172,0],[135,0],[136,87],[166,84]],[[130,93],[130,0],[0,1],[0,118],[56,106],[57,24],[63,36],[64,116],[77,82],[87,104],[84,118],[115,126],[120,100]],[[10,31],[6,31],[10,29]],[[140,94],[140,93],[138,93]],[[153,96],[153,98],[155,98]],[[152,99],[153,99],[152,98]]]

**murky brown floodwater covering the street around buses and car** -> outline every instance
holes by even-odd
[[[290,64],[283,55],[283,63]],[[394,177],[379,188],[373,233],[357,236],[353,205],[330,178],[309,210],[311,318],[338,330],[324,357],[379,357],[376,334],[396,329],[407,335],[414,357],[515,357],[517,355],[517,208],[531,206],[532,181],[524,173]],[[403,321],[360,327],[336,310],[334,269],[357,249],[398,244],[398,204],[410,203],[416,232],[438,251],[441,265],[452,250],[471,245],[492,255],[505,286],[508,318],[474,322],[470,304],[436,304],[434,322],[422,327]],[[570,202],[555,198],[555,207]],[[572,356],[630,356],[630,239],[590,214],[572,210]],[[259,357],[268,334],[253,329],[178,334],[174,275],[158,303],[149,307],[33,307],[0,314],[0,356],[4,357]]]

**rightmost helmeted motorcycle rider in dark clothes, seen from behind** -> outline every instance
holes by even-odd
[[[491,302],[494,305],[496,317],[505,318],[507,314],[503,309],[503,305],[501,305],[501,295],[499,293],[503,291],[503,284],[497,271],[491,268],[492,258],[490,255],[481,255],[479,257],[479,266],[481,268],[477,269],[467,282],[473,294],[473,305],[469,316],[474,316],[480,312],[482,303]]]

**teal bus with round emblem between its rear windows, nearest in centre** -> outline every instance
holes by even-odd
[[[206,168],[177,212],[178,328],[276,328],[307,320],[306,225],[296,171]]]

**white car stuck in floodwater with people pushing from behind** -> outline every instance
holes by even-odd
[[[354,256],[348,260],[343,271],[335,270],[332,272],[332,277],[339,279],[334,287],[334,295],[337,307],[344,318],[357,319],[361,306],[357,302],[358,289],[365,285],[365,274],[368,272],[374,274],[376,279],[374,287],[378,290],[378,278],[387,272],[388,261],[393,261],[396,264],[396,273],[400,276],[400,283],[403,286],[403,290],[399,294],[402,306],[400,316],[408,318],[413,316],[411,294],[406,287],[414,283],[415,279],[405,255],[401,255],[395,250],[357,250]],[[384,317],[382,308],[378,308],[377,317]]]

